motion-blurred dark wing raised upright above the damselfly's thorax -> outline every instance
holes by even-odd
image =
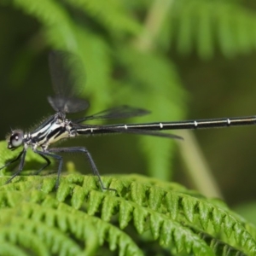
[[[49,72],[55,96],[48,102],[55,111],[76,113],[89,107],[84,99],[79,99],[84,87],[84,68],[76,55],[64,51],[49,53]]]

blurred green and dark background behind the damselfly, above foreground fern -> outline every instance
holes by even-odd
[[[256,4],[252,0],[0,3],[2,139],[9,127],[29,131],[53,113],[46,100],[53,93],[50,49],[71,51],[84,62],[82,96],[90,101],[88,114],[122,104],[152,111],[140,119],[117,121],[126,123],[256,113]],[[255,127],[193,134],[200,158],[206,160],[224,199],[234,207],[255,201]],[[64,144],[86,146],[102,174],[143,173],[198,189],[191,183],[180,143],[195,151],[188,148],[186,136],[178,143],[115,135]],[[82,156],[66,159],[74,160],[80,172],[90,173]],[[198,166],[198,160],[194,164]]]

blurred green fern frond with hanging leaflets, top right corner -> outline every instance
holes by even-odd
[[[256,15],[238,3],[182,0],[174,3],[171,11],[171,37],[183,54],[196,49],[207,59],[216,43],[226,57],[255,49]]]

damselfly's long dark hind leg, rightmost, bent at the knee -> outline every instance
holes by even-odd
[[[96,168],[96,164],[94,162],[94,160],[92,159],[91,155],[90,155],[90,152],[84,148],[84,147],[72,147],[72,148],[49,148],[48,150],[49,152],[62,152],[62,153],[84,153],[88,160],[90,161],[90,166],[91,166],[91,169],[92,169],[92,172],[95,176],[98,177],[98,180],[99,180],[99,183],[102,187],[103,190],[113,190],[113,191],[116,191],[116,189],[109,189],[109,188],[106,188],[104,187],[103,183],[102,183],[102,178],[100,176],[100,172],[98,171],[98,169]],[[61,174],[61,170],[59,168],[58,170],[58,175]]]

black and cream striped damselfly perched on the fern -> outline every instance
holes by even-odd
[[[71,66],[73,66],[71,68]],[[52,79],[52,84],[55,89],[55,96],[49,96],[48,102],[55,110],[55,114],[49,116],[44,122],[33,131],[24,132],[15,130],[11,132],[8,139],[8,148],[15,150],[20,146],[23,147],[20,154],[14,160],[10,160],[6,166],[20,160],[18,171],[9,178],[8,183],[23,170],[26,159],[27,148],[40,155],[45,164],[36,174],[44,170],[50,164],[49,158],[59,161],[56,188],[60,182],[61,169],[63,164],[62,156],[58,153],[79,152],[83,153],[90,161],[90,166],[94,175],[98,177],[102,189],[107,189],[102,183],[100,173],[96,168],[96,164],[92,159],[90,152],[84,147],[71,148],[50,148],[51,144],[68,137],[77,137],[80,135],[94,135],[94,134],[109,134],[109,133],[131,133],[143,134],[156,137],[167,137],[174,139],[181,139],[176,135],[163,133],[164,130],[179,130],[179,129],[201,129],[226,127],[232,125],[254,125],[256,124],[256,117],[241,117],[241,118],[227,118],[227,119],[199,119],[199,120],[185,120],[177,122],[157,122],[146,124],[121,124],[121,125],[84,125],[84,121],[91,119],[124,119],[134,116],[142,116],[149,113],[148,110],[142,108],[131,108],[128,106],[120,106],[118,108],[110,108],[108,110],[96,113],[94,115],[86,116],[81,119],[67,119],[67,113],[77,113],[89,107],[89,103],[84,99],[80,99],[78,80],[79,78],[79,60],[75,56],[66,52],[51,52],[49,54],[49,70]],[[38,149],[39,148],[39,149]]]

